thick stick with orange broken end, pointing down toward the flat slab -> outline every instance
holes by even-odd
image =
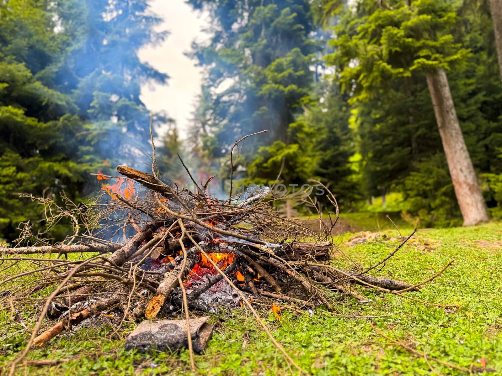
[[[193,269],[197,260],[198,260],[198,255],[192,255],[191,257],[188,257],[187,254],[187,262],[184,270],[182,270],[183,263],[181,263],[178,266],[176,266],[176,268],[174,268],[171,271],[168,271],[165,274],[164,280],[160,283],[159,287],[157,288],[156,294],[148,302],[147,308],[145,309],[146,318],[151,320],[157,316],[160,309],[164,305],[164,302],[166,301],[167,297],[178,286],[178,275],[181,273],[181,278],[183,279],[186,276],[186,274]]]

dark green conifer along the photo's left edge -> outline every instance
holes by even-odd
[[[48,87],[65,36],[54,32],[53,5],[44,1],[0,5],[0,237],[14,239],[20,222],[43,227],[44,209],[19,194],[78,197],[92,168],[78,162],[83,130],[72,98]],[[49,236],[69,231],[64,221]]]

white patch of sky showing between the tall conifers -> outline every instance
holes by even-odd
[[[195,99],[200,93],[202,71],[183,53],[190,51],[193,40],[208,39],[201,31],[207,26],[207,15],[194,12],[184,0],[154,0],[151,6],[164,19],[158,30],[167,30],[170,34],[162,45],[142,49],[139,57],[167,73],[170,79],[165,86],[143,86],[140,99],[152,112],[166,111],[176,120],[180,136],[185,138]]]

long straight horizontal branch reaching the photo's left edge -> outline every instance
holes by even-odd
[[[84,252],[99,252],[107,253],[114,252],[119,249],[120,244],[74,244],[71,246],[42,246],[42,247],[16,247],[2,248],[0,256],[15,256],[15,255],[47,255],[51,253],[84,253]]]

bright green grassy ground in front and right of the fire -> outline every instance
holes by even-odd
[[[403,235],[408,231],[402,229]],[[396,231],[389,232],[396,236]],[[336,239],[342,252],[363,266],[385,257],[396,242],[371,242],[346,247],[350,234]],[[455,263],[439,278],[419,292],[406,293],[430,303],[458,305],[438,308],[394,295],[361,289],[370,303],[340,300],[337,312],[361,316],[390,315],[353,319],[323,312],[302,314],[283,309],[282,318],[263,307],[265,319],[275,338],[307,372],[331,374],[460,374],[461,371],[423,356],[386,344],[375,326],[386,335],[400,338],[428,357],[469,368],[471,365],[494,368],[502,373],[502,225],[421,231],[420,242],[405,246],[380,275],[418,283],[440,270],[452,258]],[[342,258],[338,264],[344,264]],[[280,352],[252,316],[243,309],[220,312],[213,321],[221,322],[213,334],[206,354],[196,356],[198,374],[289,374]],[[7,364],[23,348],[25,333],[0,313],[0,339],[4,346],[0,364]],[[35,350],[29,359],[71,357],[71,361],[44,368],[19,367],[19,374],[186,374],[188,352],[170,355],[144,355],[124,351],[123,339],[133,327],[112,334],[110,328],[82,330],[73,336],[60,336],[50,346]],[[7,337],[2,337],[6,332]],[[111,337],[104,339],[105,335]]]

